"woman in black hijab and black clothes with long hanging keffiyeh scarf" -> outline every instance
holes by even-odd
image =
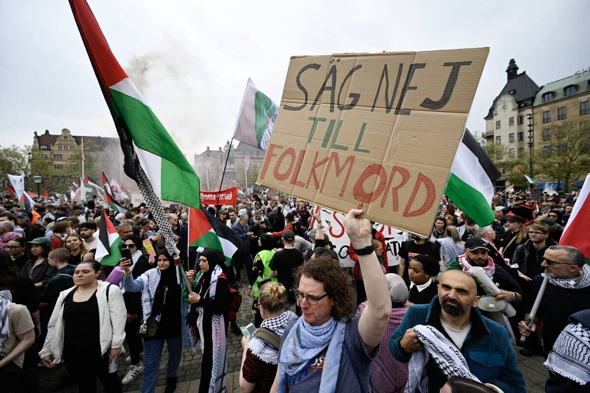
[[[194,350],[200,346],[201,384],[199,393],[225,390],[227,356],[225,351],[225,319],[230,310],[230,284],[225,273],[225,262],[214,249],[204,249],[199,255],[199,273],[188,272],[193,292],[188,325],[192,331]],[[196,276],[196,279],[195,279]]]

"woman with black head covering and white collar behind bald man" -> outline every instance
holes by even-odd
[[[418,254],[409,262],[409,298],[408,305],[429,304],[438,293],[435,279],[440,272],[438,261],[428,255]]]

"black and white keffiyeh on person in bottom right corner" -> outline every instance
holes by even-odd
[[[565,326],[553,344],[545,366],[580,385],[590,382],[590,329],[582,323]]]

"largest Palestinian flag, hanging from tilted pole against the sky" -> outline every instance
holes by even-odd
[[[125,173],[137,180],[139,165],[160,199],[198,209],[199,178],[191,164],[117,62],[87,2],[70,0],[70,6],[119,134]]]

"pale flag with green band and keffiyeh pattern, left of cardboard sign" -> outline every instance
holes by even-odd
[[[234,139],[266,150],[277,114],[277,104],[258,90],[248,78],[240,114],[235,124]]]

